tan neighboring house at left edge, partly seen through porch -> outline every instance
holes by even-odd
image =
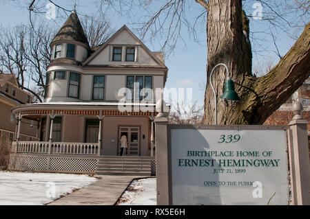
[[[0,73],[0,148],[8,147],[15,139],[17,119],[11,108],[30,104],[32,95],[20,89],[14,74]],[[29,119],[21,121],[19,138],[21,141],[33,141],[37,137],[37,122]]]

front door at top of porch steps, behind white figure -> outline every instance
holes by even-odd
[[[140,128],[139,127],[120,127],[118,128],[118,154],[121,151],[121,137],[127,137],[127,155],[138,156],[140,154]]]

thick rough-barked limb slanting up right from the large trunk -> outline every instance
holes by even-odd
[[[266,76],[255,80],[245,97],[243,114],[251,124],[262,124],[310,76],[310,23],[296,43]],[[260,115],[260,116],[258,116]]]

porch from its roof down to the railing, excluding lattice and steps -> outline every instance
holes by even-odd
[[[49,108],[49,109],[47,109]],[[154,157],[154,113],[121,112],[117,107],[79,104],[30,104],[14,108],[17,117],[37,121],[39,141],[20,141],[20,122],[12,152],[32,154],[120,155]]]

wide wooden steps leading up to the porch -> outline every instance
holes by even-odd
[[[98,175],[151,176],[154,157],[101,156],[97,164]]]

